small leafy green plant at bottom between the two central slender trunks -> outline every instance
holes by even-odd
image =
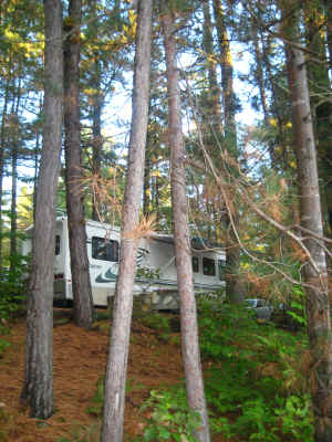
[[[142,410],[146,409],[151,412],[147,413],[143,441],[197,441],[193,433],[199,428],[200,418],[189,409],[184,387],[152,390],[142,407]]]

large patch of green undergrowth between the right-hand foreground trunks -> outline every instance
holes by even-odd
[[[246,441],[311,441],[310,397],[299,364],[305,336],[259,325],[238,306],[203,303],[199,312],[203,357],[212,364],[206,379],[211,429],[229,439],[246,434]]]

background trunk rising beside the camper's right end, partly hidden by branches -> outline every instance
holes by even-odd
[[[229,155],[238,160],[237,146],[237,125],[236,125],[236,106],[235,93],[232,85],[234,67],[230,54],[229,40],[225,24],[225,12],[221,0],[214,0],[214,14],[216,20],[219,51],[221,55],[221,91],[225,116],[225,146]],[[221,165],[222,169],[228,173],[237,173],[230,165]],[[232,217],[232,222],[230,221]],[[240,304],[245,299],[245,288],[240,276],[240,244],[237,241],[234,229],[238,228],[239,214],[235,209],[234,213],[227,213],[224,217],[224,225],[226,229],[226,294],[231,303]]]

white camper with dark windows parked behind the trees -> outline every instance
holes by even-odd
[[[117,227],[86,221],[86,246],[94,305],[106,306],[114,296],[121,253]],[[28,233],[33,228],[28,229]],[[225,252],[208,250],[201,241],[191,241],[195,291],[211,293],[225,286]],[[23,243],[23,254],[31,251],[31,239]],[[139,241],[134,295],[151,294],[154,308],[178,306],[174,239],[156,233]],[[56,218],[54,255],[54,299],[71,301],[72,280],[66,217]]]

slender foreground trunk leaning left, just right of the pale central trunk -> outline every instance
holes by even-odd
[[[191,248],[188,229],[188,202],[185,180],[185,148],[181,133],[178,70],[176,65],[174,31],[170,15],[164,13],[163,33],[166,53],[169,109],[170,182],[177,284],[180,295],[181,351],[188,404],[199,413],[201,420],[201,425],[195,432],[195,436],[200,442],[208,442],[210,435],[199,357],[197,313],[193,284]]]

